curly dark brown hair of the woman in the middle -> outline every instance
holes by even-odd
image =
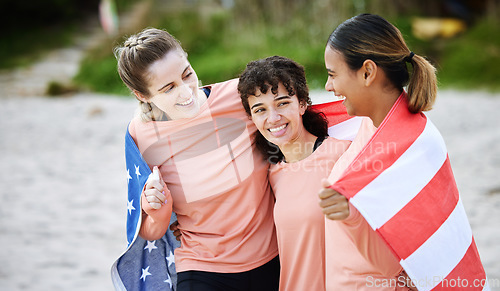
[[[296,95],[299,103],[307,105],[306,112],[302,116],[305,129],[317,137],[327,136],[328,123],[325,115],[313,111],[310,107],[312,102],[309,98],[304,67],[289,58],[272,56],[247,64],[246,69],[240,75],[238,92],[248,116],[251,116],[248,97],[255,95],[257,89],[263,94],[266,94],[268,90],[277,94],[280,83],[290,96]],[[267,141],[259,131],[255,133],[255,144],[269,162],[277,163],[283,160],[283,153],[278,146]]]

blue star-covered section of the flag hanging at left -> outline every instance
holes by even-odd
[[[116,290],[175,290],[174,250],[179,242],[170,230],[159,240],[146,241],[139,237],[142,221],[141,192],[151,174],[137,145],[127,130],[125,136],[127,166],[127,243],[126,251],[111,268],[111,279]],[[176,220],[172,214],[170,223]]]

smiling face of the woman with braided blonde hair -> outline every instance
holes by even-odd
[[[173,49],[148,69],[151,98],[138,96],[165,112],[169,120],[198,114],[206,101],[198,89],[198,76],[183,51]]]

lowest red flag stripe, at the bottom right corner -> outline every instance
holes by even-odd
[[[476,243],[472,239],[469,249],[460,263],[442,280],[433,290],[484,290],[489,289],[486,284],[486,274],[480,262]],[[482,286],[484,285],[484,286]],[[484,288],[483,288],[484,287]]]

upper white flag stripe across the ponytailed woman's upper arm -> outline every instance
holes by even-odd
[[[380,228],[417,196],[442,167],[447,154],[439,132],[428,120],[422,134],[403,154],[396,154],[396,157],[399,158],[394,164],[383,170],[350,200],[373,229]],[[380,172],[382,170],[377,167],[385,167],[386,161],[374,160],[372,164],[364,166],[363,170],[373,167],[373,172]]]

